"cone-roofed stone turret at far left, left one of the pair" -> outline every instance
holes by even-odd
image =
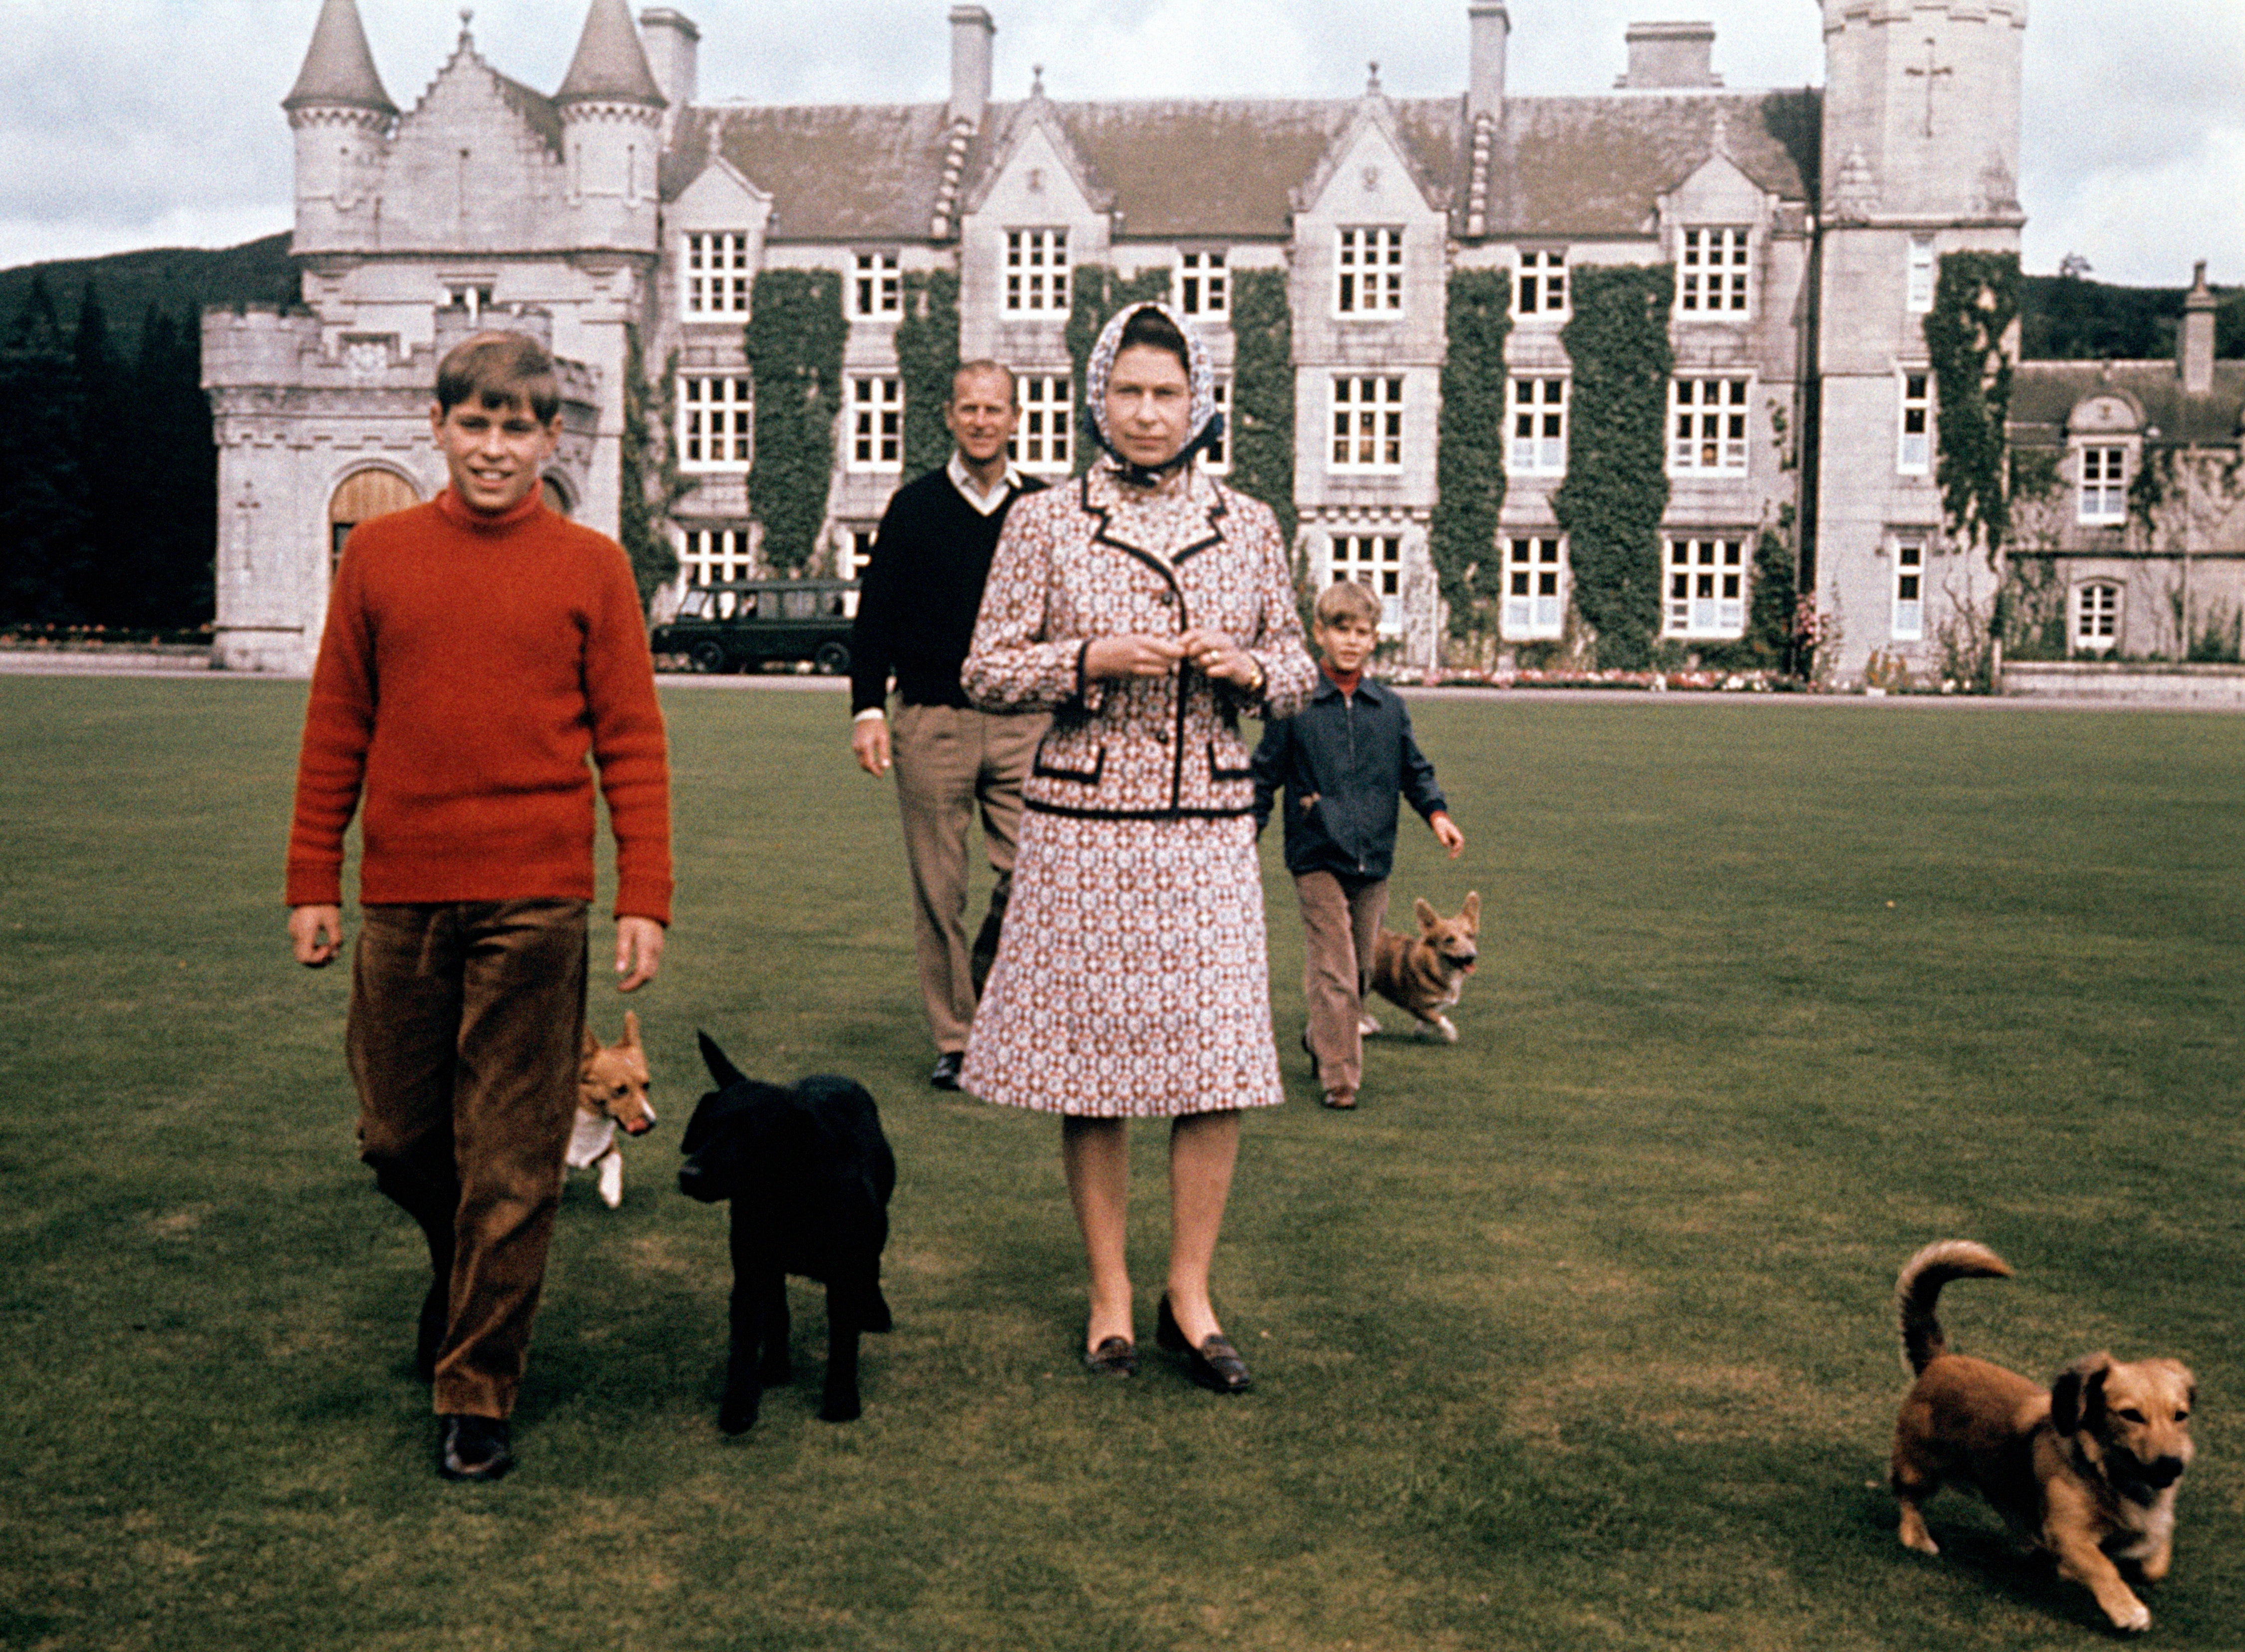
[[[370,251],[397,105],[382,90],[355,0],[323,0],[303,70],[281,108],[296,132],[294,249]]]

